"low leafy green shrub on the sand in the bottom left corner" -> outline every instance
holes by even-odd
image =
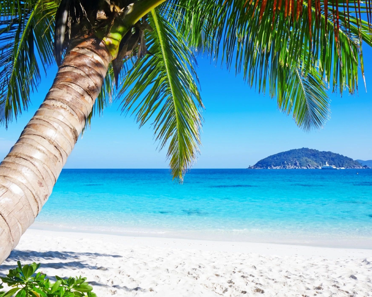
[[[0,277],[3,283],[12,288],[0,292],[0,297],[97,297],[92,292],[93,288],[85,282],[85,277],[62,279],[56,276],[57,281],[51,283],[46,274],[35,274],[40,264],[32,263],[22,267],[19,261],[17,263],[17,268],[10,269],[6,277]],[[4,288],[2,284],[0,289]]]

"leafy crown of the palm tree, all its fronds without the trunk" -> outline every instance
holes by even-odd
[[[151,122],[180,181],[199,153],[196,55],[268,89],[309,131],[329,118],[328,88],[358,89],[372,42],[372,0],[0,0],[0,13],[1,124],[28,108],[40,69],[95,35],[113,61],[87,125],[120,100],[140,126]]]

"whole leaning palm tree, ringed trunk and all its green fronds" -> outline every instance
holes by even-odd
[[[0,123],[44,102],[0,164],[0,263],[49,198],[79,135],[111,98],[149,120],[182,182],[200,144],[196,55],[243,73],[308,131],[329,117],[326,90],[358,87],[372,0],[0,0]],[[361,69],[361,71],[359,70]],[[115,87],[116,85],[116,87]],[[228,86],[227,86],[228,87]]]

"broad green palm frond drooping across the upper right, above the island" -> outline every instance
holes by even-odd
[[[265,90],[265,78],[258,76],[256,80],[255,75],[268,73],[270,64],[264,63],[268,53],[277,53],[280,63],[289,66],[297,65],[301,57],[307,54],[302,61],[304,68],[310,70],[320,64],[320,73],[333,84],[335,90],[338,88],[342,92],[348,89],[350,93],[356,90],[357,68],[361,63],[358,29],[345,32],[339,26],[338,30],[334,30],[337,25],[332,19],[325,19],[324,14],[317,13],[314,5],[319,5],[320,2],[310,2],[312,6],[310,13],[307,13],[308,1],[295,1],[295,4],[302,5],[296,17],[289,17],[289,8],[285,6],[288,0],[176,2],[176,7],[183,7],[179,8],[180,13],[185,15],[182,22],[193,21],[193,26],[188,26],[185,32],[192,35],[189,39],[198,40],[200,34],[209,36],[212,39],[214,60],[217,61],[220,57],[228,69],[235,68],[237,73],[242,72],[247,81],[253,81],[259,91]],[[276,9],[273,9],[274,6]],[[292,6],[291,9],[295,8]],[[352,28],[357,21],[355,17],[350,17]],[[343,20],[339,23],[343,24]],[[343,25],[346,27],[346,24]],[[363,40],[370,42],[372,35],[367,29],[365,24],[361,36]],[[274,43],[275,48],[272,49]],[[339,71],[333,71],[334,69]]]

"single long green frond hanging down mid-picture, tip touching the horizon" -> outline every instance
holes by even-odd
[[[200,145],[203,105],[196,61],[183,36],[159,9],[151,11],[148,22],[154,29],[146,33],[148,54],[124,78],[122,111],[131,110],[140,126],[153,120],[160,149],[169,143],[167,157],[173,178],[182,182]]]

